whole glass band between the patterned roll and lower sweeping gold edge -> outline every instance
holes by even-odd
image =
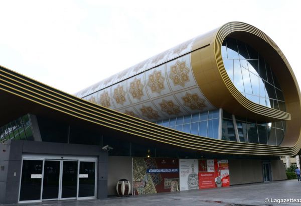
[[[235,142],[280,145],[284,138],[285,121],[264,123],[222,111],[221,128],[219,128],[219,113],[219,110],[207,111],[156,123],[193,135]],[[221,129],[220,137],[219,129]]]

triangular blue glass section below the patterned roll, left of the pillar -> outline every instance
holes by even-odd
[[[218,139],[219,110],[180,116],[156,123],[181,132]]]

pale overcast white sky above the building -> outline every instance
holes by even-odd
[[[0,0],[0,65],[76,93],[231,21],[282,50],[301,82],[301,1]]]

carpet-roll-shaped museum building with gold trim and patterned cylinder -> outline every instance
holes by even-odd
[[[0,203],[285,180],[300,91],[262,31],[230,22],[75,95],[0,67]]]

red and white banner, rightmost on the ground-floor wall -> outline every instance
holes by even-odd
[[[228,160],[199,160],[199,188],[230,185]]]

